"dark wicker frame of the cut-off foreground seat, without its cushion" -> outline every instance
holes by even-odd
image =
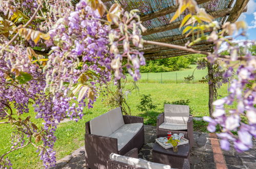
[[[132,158],[138,158],[138,153],[137,153],[137,149],[134,148],[132,149],[131,151],[129,151],[128,153],[126,153],[124,156],[126,157],[132,157]],[[149,162],[150,163],[150,162]],[[165,165],[166,166],[166,165]],[[169,165],[168,165],[169,166]],[[152,166],[151,166],[152,167]],[[170,167],[170,166],[169,166]],[[116,169],[116,168],[119,168],[119,169],[142,169],[142,167],[136,167],[134,165],[130,165],[130,164],[127,164],[127,163],[124,163],[124,162],[119,162],[119,161],[116,161],[116,160],[112,160],[112,159],[109,159],[107,161],[107,168],[108,169]],[[152,167],[153,168],[153,167]],[[157,167],[159,168],[159,167]],[[188,159],[185,159],[184,160],[184,164],[183,164],[183,169],[189,169],[190,168],[190,164],[189,164],[189,160]]]

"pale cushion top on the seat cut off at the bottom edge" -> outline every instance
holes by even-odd
[[[114,161],[123,162],[135,167],[147,168],[147,169],[171,169],[170,165],[150,162],[143,159],[137,159],[132,157],[121,156],[111,153],[109,158]]]

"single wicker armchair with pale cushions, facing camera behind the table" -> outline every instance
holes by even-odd
[[[188,105],[165,104],[164,113],[156,119],[157,137],[165,137],[167,132],[184,133],[189,140],[190,150],[193,146],[193,117],[189,115]]]

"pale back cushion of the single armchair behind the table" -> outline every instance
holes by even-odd
[[[187,124],[188,118],[188,105],[165,104],[165,122]]]

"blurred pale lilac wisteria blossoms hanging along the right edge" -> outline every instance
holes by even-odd
[[[244,23],[238,22],[235,24],[226,23],[222,27],[222,32],[212,32],[210,37],[211,41],[215,44],[214,53],[209,55],[210,61],[214,61],[219,57],[222,57],[218,51],[221,44],[226,41],[223,38],[224,33],[232,35],[235,31],[245,28]],[[242,32],[240,36],[243,36],[245,32]],[[239,36],[239,35],[238,35]],[[254,41],[245,40],[244,46],[249,44],[255,44]],[[235,71],[237,78],[235,78],[230,85],[229,95],[222,99],[213,102],[215,110],[213,112],[213,119],[210,117],[204,117],[205,121],[209,122],[208,130],[210,132],[215,131],[215,127],[219,124],[222,128],[222,133],[218,134],[221,140],[221,147],[224,150],[229,150],[230,142],[234,142],[234,147],[237,151],[242,152],[249,150],[252,147],[252,137],[256,136],[256,86],[255,86],[255,72],[256,72],[256,57],[250,53],[246,53],[244,56],[239,56],[239,46],[234,46],[232,43],[228,43],[228,51],[230,56],[225,56],[226,64],[230,61],[243,60],[238,70]],[[230,78],[233,67],[229,67],[225,73],[225,78]],[[250,88],[246,87],[250,81],[254,81]],[[237,102],[237,108],[226,110],[226,105],[232,105]],[[242,121],[242,116],[247,117],[248,122]],[[238,133],[238,137],[232,134],[232,131]]]

